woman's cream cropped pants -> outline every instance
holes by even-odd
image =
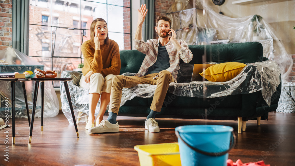
[[[85,76],[82,75],[80,79],[80,86],[85,89],[89,89],[89,93],[106,92],[111,93],[112,78],[115,75],[109,74],[105,78],[100,73],[94,73],[90,76],[90,83],[84,81]]]

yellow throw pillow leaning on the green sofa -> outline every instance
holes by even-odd
[[[239,62],[226,62],[210,66],[200,75],[209,81],[225,82],[235,78],[247,66]]]

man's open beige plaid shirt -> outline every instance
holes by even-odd
[[[193,58],[193,54],[191,53],[191,50],[189,50],[189,46],[186,44],[183,40],[177,40],[178,43],[181,45],[181,48],[179,51],[177,51],[176,47],[173,45],[173,43],[169,40],[169,42],[165,45],[165,48],[169,55],[169,64],[170,67],[167,68],[174,79],[174,81],[177,83],[177,73],[179,67],[180,58],[185,63],[189,63],[191,59]],[[147,40],[147,42],[144,42],[143,40],[136,40],[135,42],[135,48],[146,54],[145,59],[142,62],[142,65],[138,71],[138,73],[135,76],[142,77],[145,75],[145,73],[148,72],[148,68],[152,66],[156,60],[158,55],[158,47],[159,47],[159,40],[151,39]]]

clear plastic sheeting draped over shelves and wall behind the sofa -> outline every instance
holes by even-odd
[[[258,41],[263,45],[263,56],[279,65],[282,80],[289,79],[293,65],[291,54],[261,16],[230,18],[216,13],[201,0],[196,0],[195,6],[192,8],[187,0],[180,0],[168,9],[166,16],[171,19],[177,39],[188,45]]]

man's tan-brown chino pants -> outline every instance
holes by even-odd
[[[158,77],[153,79],[157,75]],[[143,77],[116,75],[114,76],[112,81],[111,101],[108,112],[114,112],[118,114],[123,87],[131,88],[136,86],[137,84],[157,85],[150,109],[160,112],[164,103],[167,90],[169,88],[169,84],[171,82],[174,82],[174,79],[171,73],[167,70],[162,70],[160,71],[160,73],[148,74]]]

